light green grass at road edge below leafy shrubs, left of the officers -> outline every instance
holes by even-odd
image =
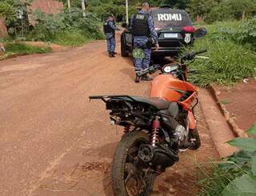
[[[65,31],[56,34],[52,42],[64,45],[64,46],[82,46],[85,43],[93,41],[93,38],[89,38],[88,35],[82,34],[81,31]]]

